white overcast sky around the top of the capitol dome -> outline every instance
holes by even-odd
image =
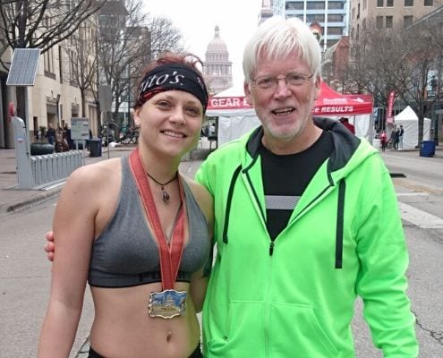
[[[257,28],[262,0],[143,0],[146,11],[171,19],[188,50],[205,60],[216,25],[233,63],[234,85],[243,83],[243,46]]]

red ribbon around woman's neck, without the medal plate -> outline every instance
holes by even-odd
[[[183,254],[183,227],[184,227],[184,194],[183,184],[178,176],[178,187],[180,190],[180,198],[182,205],[179,209],[174,231],[170,245],[167,244],[166,236],[163,233],[158,217],[158,211],[150,191],[148,176],[146,175],[143,164],[141,163],[139,149],[132,150],[129,155],[129,163],[132,175],[137,183],[143,206],[149,218],[149,222],[154,229],[154,237],[156,238],[160,254],[161,282],[164,290],[174,289],[175,278],[178,274],[178,268]]]

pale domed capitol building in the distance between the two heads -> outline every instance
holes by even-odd
[[[209,41],[206,48],[203,64],[203,74],[208,81],[211,96],[233,86],[232,66],[226,43],[220,38],[220,29],[217,25],[214,29],[214,38]]]

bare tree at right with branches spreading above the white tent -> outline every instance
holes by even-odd
[[[353,38],[345,74],[347,90],[371,93],[380,107],[387,107],[391,90],[404,105],[413,107],[419,117],[419,144],[430,110],[426,87],[438,57],[436,41],[418,28],[405,30],[397,24],[393,29],[376,29],[369,23],[359,38]]]

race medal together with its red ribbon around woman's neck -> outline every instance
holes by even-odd
[[[146,210],[149,222],[154,233],[153,236],[158,241],[158,251],[160,256],[161,282],[163,291],[149,294],[148,313],[150,317],[171,319],[186,311],[186,292],[174,289],[175,278],[178,274],[180,261],[183,253],[183,227],[184,227],[184,193],[183,184],[178,178],[178,187],[182,205],[180,206],[177,220],[175,222],[171,243],[166,242],[165,234],[162,231],[158,212],[150,192],[146,171],[141,163],[138,149],[134,149],[130,154],[130,166],[135,183],[139,188],[141,200]]]

